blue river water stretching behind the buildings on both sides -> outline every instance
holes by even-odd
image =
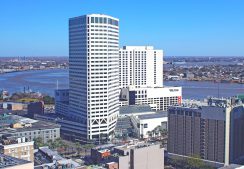
[[[57,81],[59,88],[68,88],[68,70],[52,69],[0,74],[0,89],[14,93],[23,91],[24,87],[29,86],[32,91],[53,96]],[[244,85],[234,83],[166,81],[164,85],[182,86],[184,99],[203,99],[207,96],[230,97],[244,93]]]

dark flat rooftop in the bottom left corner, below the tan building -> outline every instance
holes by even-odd
[[[13,167],[17,165],[31,163],[30,161],[10,157],[4,154],[0,154],[0,158],[3,160],[0,161],[0,168]]]

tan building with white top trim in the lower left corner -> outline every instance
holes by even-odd
[[[34,142],[22,138],[3,138],[0,144],[2,154],[34,162]]]

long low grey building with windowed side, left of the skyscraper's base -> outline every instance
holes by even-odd
[[[0,125],[4,126],[0,129],[0,137],[11,134],[15,137],[26,137],[30,141],[40,137],[44,143],[60,138],[60,125],[50,122],[5,115],[0,117]]]

